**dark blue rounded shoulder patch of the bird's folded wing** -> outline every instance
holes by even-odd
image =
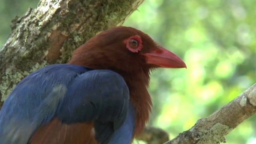
[[[76,77],[57,111],[64,123],[94,121],[96,140],[104,144],[124,123],[129,90],[124,79],[110,70],[92,70]]]

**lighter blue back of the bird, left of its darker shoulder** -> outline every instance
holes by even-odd
[[[38,126],[52,120],[66,86],[88,70],[83,66],[53,64],[21,80],[1,108],[0,143],[26,143]]]

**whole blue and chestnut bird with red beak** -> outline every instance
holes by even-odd
[[[186,68],[136,28],[116,26],[23,78],[0,110],[0,144],[130,144],[149,119],[156,68]]]

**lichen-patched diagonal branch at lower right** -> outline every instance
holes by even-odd
[[[256,112],[256,84],[207,118],[202,118],[188,131],[164,144],[218,144],[238,124]]]

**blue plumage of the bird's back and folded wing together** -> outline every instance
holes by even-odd
[[[0,111],[0,143],[26,144],[39,126],[56,117],[66,124],[94,121],[102,144],[116,142],[115,132],[126,125],[133,129],[135,120],[122,76],[54,64],[28,75],[8,96]]]

